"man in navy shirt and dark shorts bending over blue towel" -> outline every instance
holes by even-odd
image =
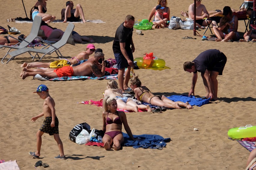
[[[193,72],[192,85],[188,96],[191,94],[195,95],[197,72],[201,72],[203,84],[206,89],[206,95],[203,98],[211,98],[211,101],[218,100],[217,76],[222,75],[226,62],[227,57],[217,49],[203,51],[192,62],[185,62],[183,64],[184,70],[190,73]]]

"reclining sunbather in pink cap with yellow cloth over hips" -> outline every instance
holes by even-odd
[[[63,66],[74,66],[74,64],[78,64],[82,60],[92,59],[94,56],[92,56],[91,58],[89,56],[93,54],[94,51],[96,54],[96,52],[98,52],[99,49],[100,48],[97,48],[95,50],[95,46],[93,44],[88,44],[86,47],[86,51],[82,51],[81,53],[79,53],[75,57],[72,57],[71,59],[64,58],[64,59],[56,60],[50,63],[43,63],[43,62],[23,63],[20,67],[26,67],[26,69],[35,68],[35,67],[58,69]]]

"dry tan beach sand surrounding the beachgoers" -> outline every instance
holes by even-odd
[[[0,25],[16,27],[22,34],[29,34],[32,24],[6,22],[6,19],[23,17],[25,13],[21,1],[1,3]],[[26,11],[36,0],[24,0]],[[101,19],[106,23],[75,24],[75,31],[92,37],[96,48],[102,48],[105,58],[114,58],[112,41],[117,27],[131,14],[138,19],[147,19],[157,0],[120,1],[100,0],[82,1],[85,19]],[[171,16],[180,16],[193,1],[168,1]],[[229,5],[239,9],[242,0],[202,1],[208,10],[222,9]],[[60,19],[60,10],[65,7],[64,0],[47,1],[47,13]],[[181,17],[182,19],[184,17]],[[67,23],[51,23],[53,27],[65,30]],[[245,30],[239,21],[238,31]],[[134,30],[136,31],[136,30]],[[203,34],[203,31],[199,31]],[[135,33],[135,32],[134,32]],[[227,64],[222,76],[218,76],[219,101],[194,107],[193,110],[167,110],[164,113],[127,113],[133,134],[158,134],[170,137],[163,150],[134,149],[124,147],[120,151],[105,151],[103,148],[77,145],[69,141],[69,131],[77,124],[87,122],[92,128],[102,128],[102,109],[96,106],[78,104],[89,99],[99,100],[108,80],[85,81],[39,81],[19,76],[23,62],[32,62],[27,54],[20,55],[7,65],[0,64],[1,120],[0,120],[0,158],[5,161],[17,160],[20,169],[33,169],[38,161],[29,156],[36,150],[36,132],[43,118],[31,122],[33,116],[42,111],[43,100],[33,94],[39,84],[46,84],[50,95],[56,102],[56,115],[59,118],[59,134],[64,145],[67,160],[56,160],[59,154],[52,136],[43,135],[41,159],[50,165],[49,169],[244,169],[249,151],[236,141],[228,139],[227,131],[233,127],[255,125],[255,43],[214,42],[181,39],[193,36],[191,30],[156,29],[142,31],[144,35],[133,35],[136,51],[134,58],[144,53],[166,61],[171,69],[163,71],[135,70],[143,84],[156,94],[187,94],[191,86],[192,74],[184,72],[184,61],[192,61],[202,51],[217,48],[227,56]],[[210,35],[210,31],[207,31]],[[1,35],[4,36],[4,35]],[[75,56],[86,49],[86,44],[65,45],[60,48],[64,56]],[[7,50],[0,50],[3,57]],[[2,59],[0,57],[0,59]],[[56,60],[56,54],[45,57],[43,61]],[[199,77],[195,89],[197,97],[205,95],[202,79]],[[194,131],[199,128],[199,131]],[[125,132],[125,130],[124,130]],[[139,167],[139,168],[138,168]],[[43,169],[39,167],[38,169]]]

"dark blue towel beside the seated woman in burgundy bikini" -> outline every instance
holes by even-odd
[[[170,142],[171,138],[163,138],[159,135],[133,135],[134,138],[139,137],[141,140],[130,140],[128,134],[123,133],[123,146],[132,146],[135,149],[138,148],[150,148],[150,149],[163,149],[166,146],[166,142]]]

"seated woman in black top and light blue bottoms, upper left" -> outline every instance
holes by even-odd
[[[41,16],[42,21],[45,23],[50,23],[52,22],[56,16],[46,14],[47,8],[46,8],[46,1],[47,0],[38,0],[34,6],[34,10],[32,12],[32,19],[34,20],[35,16]]]

